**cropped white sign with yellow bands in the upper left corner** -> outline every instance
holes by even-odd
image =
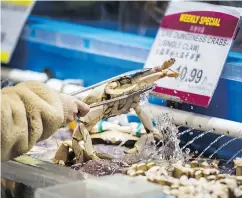
[[[9,63],[34,0],[1,0],[1,62]]]

